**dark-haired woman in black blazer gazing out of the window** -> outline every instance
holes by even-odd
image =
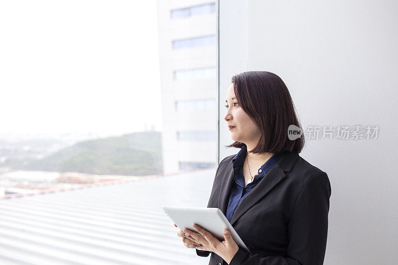
[[[185,229],[178,236],[199,256],[211,252],[210,265],[323,264],[330,182],[298,155],[304,136],[291,133],[302,129],[285,83],[270,72],[241,73],[225,102],[235,141],[227,147],[240,151],[218,166],[207,207],[225,214],[250,252],[227,230],[222,242],[198,226],[200,234]]]

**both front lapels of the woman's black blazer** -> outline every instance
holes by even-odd
[[[243,198],[242,202],[238,205],[235,212],[232,215],[231,225],[241,217],[250,207],[252,207],[257,201],[264,197],[276,184],[278,184],[284,177],[286,177],[285,172],[291,171],[293,165],[298,158],[298,153],[296,152],[286,152],[275,167],[273,167],[261,181],[254,187],[250,193]],[[233,182],[233,168],[232,160],[230,165],[227,167],[230,169],[228,171],[221,185],[221,191],[218,198],[218,208],[226,216],[226,211],[228,207],[229,195]]]

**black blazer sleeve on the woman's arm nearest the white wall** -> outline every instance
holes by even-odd
[[[252,255],[239,248],[229,265],[318,265],[323,264],[331,195],[327,174],[308,177],[288,221],[287,256]]]

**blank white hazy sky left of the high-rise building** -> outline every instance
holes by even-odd
[[[161,129],[156,0],[0,1],[0,133]]]

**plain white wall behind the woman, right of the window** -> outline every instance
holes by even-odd
[[[231,76],[269,71],[308,125],[379,125],[377,140],[307,140],[332,194],[325,264],[398,261],[397,1],[220,0],[220,160]]]

